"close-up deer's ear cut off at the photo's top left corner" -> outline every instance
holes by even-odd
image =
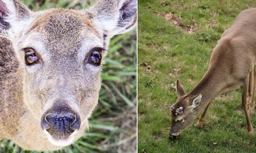
[[[0,0],[0,36],[11,39],[20,36],[30,13],[19,0]]]

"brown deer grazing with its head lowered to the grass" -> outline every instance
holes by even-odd
[[[239,13],[234,24],[224,31],[214,48],[209,68],[195,88],[185,94],[177,80],[177,102],[171,106],[170,138],[176,139],[203,112],[195,126],[202,128],[207,111],[217,96],[241,87],[242,105],[249,135],[254,114],[256,81],[256,8]],[[247,95],[248,94],[248,95]]]

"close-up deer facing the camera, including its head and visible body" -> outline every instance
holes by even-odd
[[[110,39],[134,29],[136,0],[31,11],[0,0],[0,140],[59,150],[89,128]]]

